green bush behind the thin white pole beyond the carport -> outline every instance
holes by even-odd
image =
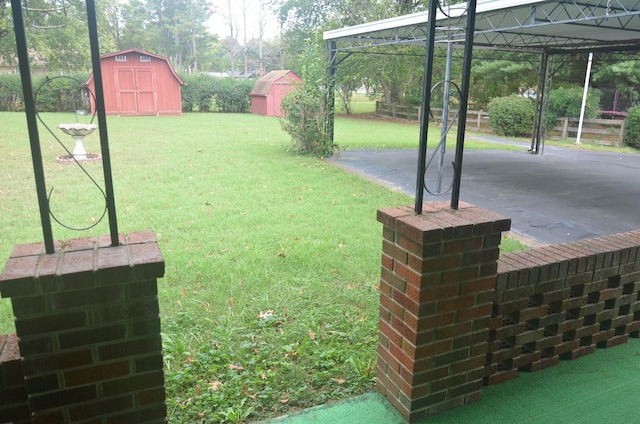
[[[547,128],[556,126],[560,117],[579,118],[582,109],[584,88],[558,88],[549,93],[549,108],[546,114]],[[600,114],[600,97],[602,93],[597,89],[590,89],[584,109],[585,119],[597,118]]]

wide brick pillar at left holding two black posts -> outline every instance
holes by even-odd
[[[151,232],[17,246],[0,276],[11,297],[34,423],[166,421]]]

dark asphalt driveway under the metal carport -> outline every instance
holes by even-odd
[[[527,144],[520,147],[465,151],[460,200],[511,218],[513,232],[543,244],[640,228],[640,154],[547,146],[544,154],[532,155]],[[417,150],[347,150],[330,161],[415,195]]]

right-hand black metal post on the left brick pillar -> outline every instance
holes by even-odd
[[[102,168],[104,172],[104,186],[107,197],[107,212],[109,214],[109,233],[111,246],[118,246],[118,220],[116,217],[116,203],[111,177],[111,155],[109,153],[109,137],[107,134],[107,114],[104,106],[104,91],[102,88],[102,69],[100,67],[100,46],[98,44],[98,24],[96,21],[96,6],[94,0],[87,0],[87,22],[89,27],[89,45],[91,47],[91,64],[93,66],[93,81],[95,83],[96,112],[100,128],[100,149],[102,153]]]

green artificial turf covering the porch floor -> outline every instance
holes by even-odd
[[[481,401],[418,424],[633,424],[640,422],[640,340],[484,387]],[[377,393],[263,424],[404,424]]]

